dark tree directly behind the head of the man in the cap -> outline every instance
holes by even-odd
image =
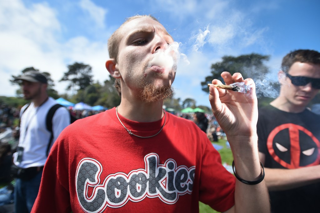
[[[25,69],[23,69],[20,75],[12,75],[12,79],[10,79],[11,84],[13,85],[19,85],[19,81],[15,81],[16,78],[19,78],[23,73],[28,72],[28,71],[38,71],[40,72],[38,69],[35,69],[33,66],[32,67],[27,67]],[[49,72],[42,72],[42,74],[44,74],[44,76],[47,78],[48,81],[48,87],[47,87],[47,93],[50,97],[57,99],[59,98],[58,92],[53,89],[54,87],[54,81],[51,78],[51,74]],[[21,89],[18,89],[16,91],[17,96],[21,95]]]

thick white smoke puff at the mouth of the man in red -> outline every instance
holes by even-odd
[[[167,49],[158,49],[153,54],[153,59],[149,62],[150,66],[159,66],[164,68],[165,72],[169,72],[170,70],[174,69],[176,72],[177,64],[179,63],[180,56],[184,57],[184,59],[188,63],[188,59],[186,59],[186,55],[180,53],[179,51],[179,43],[173,42],[172,44],[168,45]]]

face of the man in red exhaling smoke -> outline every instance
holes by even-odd
[[[121,73],[122,89],[139,94],[148,86],[170,86],[175,70],[165,72],[161,66],[149,65],[157,51],[166,49],[173,42],[165,28],[153,19],[137,18],[122,26],[120,34],[116,68]]]

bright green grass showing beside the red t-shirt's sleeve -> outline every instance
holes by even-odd
[[[232,156],[231,149],[227,148],[226,146],[226,141],[219,139],[218,142],[212,142],[212,143],[223,146],[223,148],[218,151],[221,156],[222,164],[227,163],[231,165],[233,161],[233,156]],[[202,202],[199,202],[199,212],[200,213],[218,213],[218,211],[213,210],[210,206]]]

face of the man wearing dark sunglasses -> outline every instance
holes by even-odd
[[[320,78],[320,65],[295,62],[290,67],[288,74],[291,76],[304,76],[309,78]],[[281,93],[292,106],[306,107],[316,96],[319,89],[312,87],[311,82],[304,86],[295,86],[289,77],[282,82]]]

